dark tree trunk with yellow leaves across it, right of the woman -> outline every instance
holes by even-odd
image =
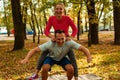
[[[87,0],[87,11],[88,11],[88,18],[89,18],[89,44],[98,44],[98,17],[96,16],[95,12],[95,2],[94,0]]]

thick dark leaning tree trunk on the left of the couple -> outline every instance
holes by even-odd
[[[15,41],[13,50],[24,48],[24,26],[22,22],[21,7],[19,0],[11,0],[12,16],[15,30]]]

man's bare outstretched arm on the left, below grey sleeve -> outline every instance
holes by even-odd
[[[32,55],[34,55],[36,52],[39,52],[39,51],[40,51],[39,47],[36,47],[36,48],[30,50],[28,52],[28,54],[26,55],[26,57],[23,60],[20,61],[20,63],[21,64],[26,64],[29,61],[30,57],[32,57]]]

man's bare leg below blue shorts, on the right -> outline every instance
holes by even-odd
[[[74,75],[73,66],[72,66],[71,64],[67,64],[67,65],[65,66],[65,69],[66,69],[66,71],[67,71],[68,80],[72,80],[73,75]]]

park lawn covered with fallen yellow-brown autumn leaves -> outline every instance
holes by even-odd
[[[80,36],[78,43],[86,46],[93,57],[91,63],[87,63],[83,53],[75,50],[79,75],[93,73],[103,80],[120,80],[120,46],[113,45],[113,32],[99,33],[100,43],[87,46],[87,34]],[[40,44],[46,42],[41,40]],[[23,80],[30,76],[36,68],[40,53],[35,54],[28,64],[21,65],[19,61],[25,57],[27,52],[36,47],[37,43],[32,40],[25,40],[25,48],[10,52],[13,48],[13,41],[0,41],[0,80]],[[50,74],[62,74],[61,67],[54,66]]]

